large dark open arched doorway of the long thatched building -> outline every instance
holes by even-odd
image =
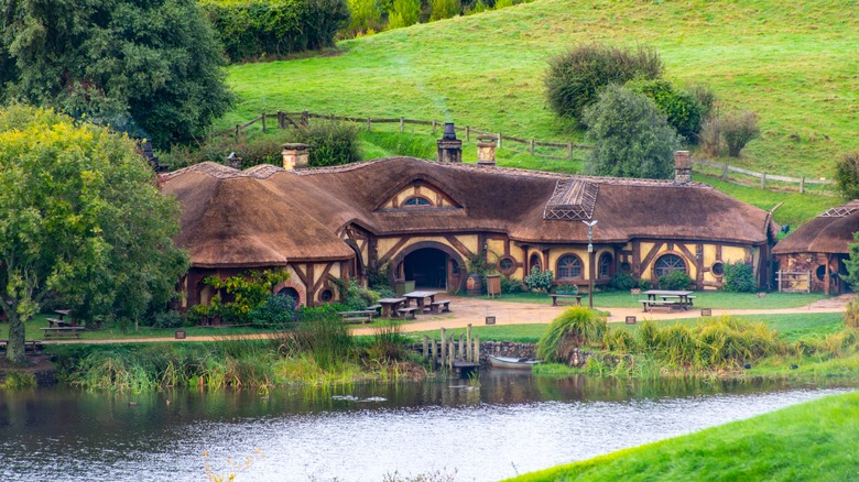
[[[391,281],[414,281],[415,288],[445,289],[450,293],[465,288],[465,261],[447,244],[421,241],[403,248],[391,262],[394,266]]]

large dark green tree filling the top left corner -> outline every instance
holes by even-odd
[[[0,2],[0,97],[159,147],[193,139],[227,110],[224,63],[194,0]]]

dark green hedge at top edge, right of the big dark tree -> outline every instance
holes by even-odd
[[[231,62],[334,45],[349,20],[345,0],[200,2]]]

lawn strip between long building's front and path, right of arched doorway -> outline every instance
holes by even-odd
[[[695,296],[695,308],[714,309],[797,308],[826,297],[826,295],[816,293],[768,293],[765,297],[759,298],[754,293],[725,292],[696,292]],[[509,303],[552,304],[552,299],[545,293],[507,294],[496,299]],[[629,292],[602,292],[594,295],[594,306],[599,308],[640,308],[639,299],[646,299],[646,296],[630,295]],[[581,299],[583,304],[586,302],[587,298]]]

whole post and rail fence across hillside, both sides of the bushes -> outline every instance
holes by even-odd
[[[244,122],[243,124],[237,124],[235,128],[230,128],[220,132],[217,132],[216,135],[227,135],[227,134],[233,134],[237,138],[241,134],[242,131],[247,130],[251,125],[260,122],[262,125],[262,132],[265,132],[267,129],[269,129],[268,120],[273,119],[276,121],[276,125],[279,129],[289,129],[290,127],[294,128],[306,128],[311,123],[311,119],[319,119],[319,120],[327,120],[331,122],[352,122],[358,123],[367,127],[367,130],[372,130],[372,124],[399,124],[400,132],[405,132],[405,125],[406,124],[414,124],[414,125],[427,125],[432,128],[432,132],[435,133],[436,129],[439,127],[444,127],[443,121],[437,120],[416,120],[416,119],[406,119],[403,117],[400,118],[380,118],[380,119],[373,119],[369,117],[347,117],[347,116],[334,116],[334,114],[320,114],[320,113],[313,113],[309,111],[301,111],[301,112],[285,112],[285,111],[276,111],[276,113],[261,113],[259,117],[251,119],[248,122]],[[543,158],[547,160],[556,160],[556,161],[568,161],[574,158],[574,152],[575,151],[591,151],[594,150],[592,146],[589,145],[583,145],[583,144],[575,144],[573,142],[544,142],[544,141],[537,141],[535,139],[523,139],[518,138],[513,135],[503,134],[498,131],[487,131],[483,129],[476,129],[469,125],[465,127],[455,127],[455,129],[459,132],[465,133],[465,141],[470,142],[471,136],[476,135],[479,138],[490,138],[498,142],[497,147],[501,149],[502,144],[505,142],[511,142],[515,144],[522,144],[528,146],[529,154],[536,155]],[[565,155],[551,155],[546,153],[542,153],[536,151],[536,147],[550,147],[550,149],[557,149],[557,150],[565,150]],[[770,190],[784,190],[784,188],[775,189],[772,186],[772,183],[782,183],[782,184],[789,184],[789,185],[798,185],[798,193],[805,194],[807,190],[806,186],[833,186],[835,183],[830,179],[814,179],[814,178],[806,178],[806,177],[789,177],[789,176],[779,176],[774,174],[768,174],[768,173],[758,173],[754,171],[743,169],[741,167],[736,167],[729,164],[720,164],[720,163],[713,163],[708,161],[703,160],[692,160],[692,163],[694,165],[704,166],[704,167],[710,167],[717,169],[717,172],[720,172],[719,174],[711,174],[711,173],[702,173],[705,176],[713,177],[713,178],[720,178],[724,182],[732,183],[732,184],[739,184],[742,186],[754,186],[759,185],[761,189],[770,189]],[[737,173],[743,176],[749,176],[752,178],[757,178],[757,182],[752,183],[743,183],[737,176],[730,176],[730,173]],[[770,187],[768,187],[768,182],[770,183]],[[789,188],[787,190],[793,190],[792,188]],[[816,191],[815,194],[827,196],[828,193],[820,193]]]

